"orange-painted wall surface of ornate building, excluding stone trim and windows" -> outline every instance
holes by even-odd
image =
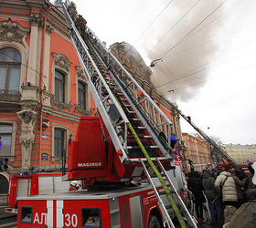
[[[38,4],[40,4],[39,1]],[[7,5],[7,4],[6,4]],[[22,7],[26,5],[26,3],[23,3]],[[11,18],[11,20],[13,22],[17,22],[19,23],[21,26],[24,26],[26,28],[30,28],[30,24],[29,24],[29,16],[30,13],[39,13],[38,10],[33,10],[31,8],[27,7],[27,10],[16,10],[15,7],[19,7],[18,3],[16,4],[16,6],[14,6],[14,8],[12,7],[8,7],[8,8],[4,8],[4,9],[0,9],[0,14],[1,11],[5,11],[6,14],[6,18],[1,18],[1,21],[7,21],[8,17]],[[56,9],[55,9],[56,11]],[[43,13],[45,14],[45,13]],[[61,15],[61,14],[59,14]],[[71,100],[71,108],[70,109],[65,109],[65,110],[59,110],[57,107],[52,106],[50,108],[46,108],[44,105],[42,106],[42,112],[40,112],[40,105],[38,105],[37,107],[34,107],[33,110],[37,112],[37,121],[36,121],[36,126],[35,126],[35,140],[34,143],[32,144],[32,153],[31,153],[31,161],[30,161],[30,165],[31,166],[46,166],[46,165],[56,165],[59,164],[59,161],[52,161],[52,153],[53,153],[53,144],[52,144],[52,136],[53,136],[53,125],[60,125],[65,127],[65,129],[68,129],[69,134],[72,134],[72,139],[75,139],[76,137],[76,130],[77,130],[77,126],[78,126],[78,121],[80,119],[80,113],[76,111],[76,100],[77,100],[77,70],[75,68],[75,66],[80,67],[80,61],[79,58],[77,57],[76,54],[76,50],[73,47],[71,40],[70,42],[67,41],[66,39],[69,39],[69,36],[67,36],[67,34],[69,34],[69,31],[63,31],[62,28],[60,28],[56,21],[58,21],[59,18],[55,17],[55,16],[59,16],[58,14],[56,15],[55,12],[53,12],[52,10],[50,10],[49,15],[48,15],[48,19],[47,19],[47,25],[51,26],[51,28],[53,28],[53,31],[50,34],[50,51],[49,51],[49,68],[48,68],[48,92],[50,94],[54,93],[54,88],[52,88],[52,65],[54,64],[54,57],[51,55],[51,53],[56,53],[56,54],[63,54],[65,57],[67,57],[69,59],[69,62],[71,62],[71,65],[69,67],[69,74],[70,74],[70,100]],[[64,21],[64,20],[63,20]],[[61,22],[60,22],[61,24]],[[66,25],[62,25],[65,29],[66,29]],[[42,29],[41,27],[38,28]],[[59,36],[59,34],[57,34],[57,30],[58,29],[61,32],[61,36]],[[58,33],[59,33],[58,31]],[[42,31],[43,33],[43,31]],[[66,36],[66,39],[63,38],[62,36]],[[31,34],[30,32],[28,32],[27,34],[27,45],[30,45],[30,38],[31,38]],[[41,47],[39,47],[40,42],[37,42],[38,44],[38,50],[40,50]],[[25,47],[26,48],[26,47]],[[41,56],[40,53],[38,53],[39,56]],[[37,55],[37,56],[38,56]],[[40,61],[40,63],[42,64],[42,61]],[[27,57],[27,64],[28,64],[28,57]],[[42,66],[37,66],[37,69]],[[35,69],[35,70],[37,70]],[[27,70],[26,70],[26,80],[24,82],[21,82],[20,84],[24,83],[25,85],[27,85]],[[39,88],[39,85],[36,85],[37,88]],[[20,93],[22,94],[22,88],[20,88]],[[39,94],[39,93],[38,93]],[[93,102],[92,97],[90,97],[91,99],[91,111],[92,114],[95,114],[95,105]],[[37,100],[38,102],[39,99]],[[1,105],[1,104],[0,104]],[[20,126],[20,122],[17,119],[16,116],[16,112],[22,110],[22,109],[27,109],[24,108],[22,105],[20,105],[20,107],[18,109],[15,110],[0,110],[0,123],[1,123],[1,119],[15,119],[16,120],[16,141],[15,141],[15,158],[13,158],[13,161],[9,159],[9,163],[10,163],[10,167],[12,169],[14,169],[15,171],[17,169],[19,169],[22,165],[22,150],[21,150],[21,144],[19,142],[20,139],[20,135],[21,135],[21,126]],[[50,109],[50,111],[48,110]],[[69,114],[66,115],[66,117],[61,117],[61,115],[57,115],[55,114],[56,112],[62,112],[63,114]],[[41,114],[42,113],[42,114]],[[42,124],[40,122],[40,115],[42,115],[42,119],[48,119],[49,120],[49,126],[48,127],[42,127]],[[67,118],[67,116],[71,116],[72,119]],[[40,134],[40,129],[41,129],[41,133],[45,134],[45,136],[47,135],[47,139],[42,138],[42,135]],[[66,136],[66,140],[68,141],[69,139],[69,135]],[[41,149],[41,150],[40,150]],[[48,161],[42,161],[41,160],[41,154],[42,153],[48,153]]]

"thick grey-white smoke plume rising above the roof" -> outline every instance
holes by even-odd
[[[161,58],[152,68],[152,81],[160,94],[173,101],[186,101],[204,86],[210,60],[219,53],[214,41],[225,10],[222,3],[226,1],[174,1],[157,21],[158,29],[150,37],[151,42],[144,43],[144,50],[151,60]]]

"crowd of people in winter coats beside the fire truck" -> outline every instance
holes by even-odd
[[[256,162],[249,171],[205,169],[187,174],[197,220],[204,221],[204,206],[208,203],[210,223],[214,227],[256,227]]]

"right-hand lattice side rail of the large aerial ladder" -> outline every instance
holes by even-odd
[[[86,30],[87,39],[91,42],[97,55],[112,72],[112,88],[120,89],[123,96],[126,116],[135,114],[135,119],[140,119],[143,126],[155,140],[156,145],[162,151],[166,158],[170,156],[166,150],[170,151],[171,126],[172,122],[165,116],[165,113],[159,109],[155,102],[148,96],[143,88],[134,80],[123,65],[112,55],[112,53],[101,43],[101,40],[95,36],[90,28]],[[87,41],[86,41],[86,44]],[[138,96],[140,94],[140,96]]]

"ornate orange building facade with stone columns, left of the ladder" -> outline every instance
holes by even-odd
[[[1,1],[0,137],[8,172],[54,171],[91,92],[64,16],[47,0]]]

